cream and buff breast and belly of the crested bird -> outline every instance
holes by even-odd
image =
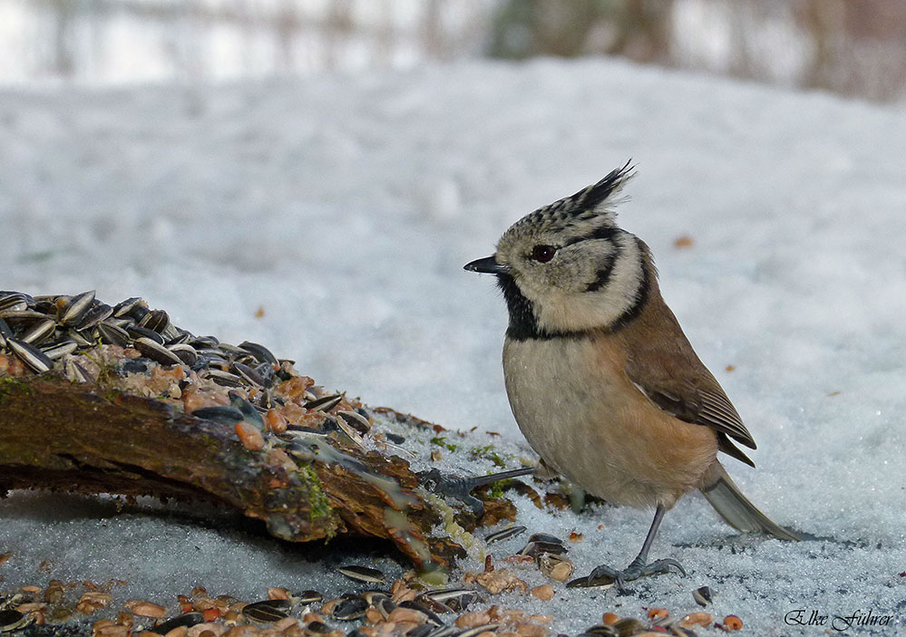
[[[503,347],[513,416],[541,458],[610,502],[671,507],[697,487],[716,437],[658,409],[625,367],[606,336],[507,339]]]

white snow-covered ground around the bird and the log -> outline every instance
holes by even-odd
[[[738,538],[687,497],[652,555],[679,558],[689,578],[635,597],[559,587],[538,607],[580,632],[606,610],[694,610],[691,590],[711,584],[715,613],[748,634],[823,634],[784,624],[796,609],[871,610],[902,627],[904,148],[902,111],[610,62],[0,92],[0,288],[141,295],[369,404],[515,443],[502,299],[462,266],[631,157],[620,221],[651,246],[667,303],[759,445],[757,469],[726,465],[808,539]],[[674,245],[684,235],[693,246]],[[533,531],[584,532],[580,573],[628,562],[650,521],[520,507]],[[263,596],[320,577],[304,548],[192,516],[23,494],[0,516],[5,590],[122,578],[127,597],[196,583]]]

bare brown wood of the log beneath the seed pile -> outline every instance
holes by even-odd
[[[283,449],[246,449],[229,425],[162,401],[54,373],[0,377],[0,492],[202,499],[261,519],[288,541],[384,538],[422,569],[464,555],[430,534],[441,518],[413,491],[408,463],[321,438],[329,449],[306,462]]]

